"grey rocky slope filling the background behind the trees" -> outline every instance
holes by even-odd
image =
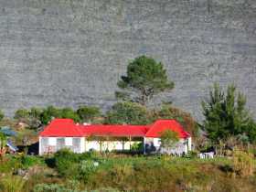
[[[114,102],[139,55],[162,60],[165,98],[200,119],[214,81],[256,112],[255,0],[0,0],[0,107]]]

